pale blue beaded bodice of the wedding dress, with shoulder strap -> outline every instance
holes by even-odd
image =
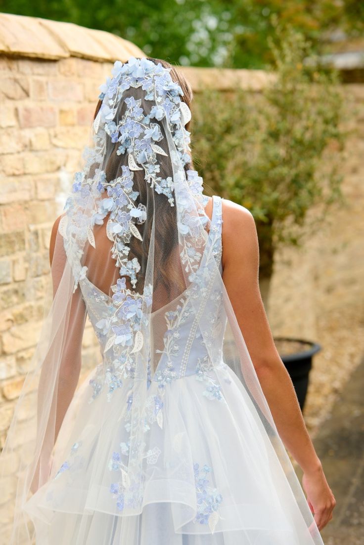
[[[211,239],[213,255],[220,272],[222,272],[221,199],[214,196],[213,203],[209,237]],[[96,331],[102,353],[104,353],[104,362],[100,365],[99,372],[102,376],[105,376],[106,369],[109,367],[110,370],[110,366],[112,366],[110,351],[105,350],[105,348],[108,345],[110,337],[114,335],[114,331],[111,329],[105,331],[105,318],[111,317],[115,312],[115,307],[112,304],[112,297],[102,292],[102,290],[88,280],[87,276],[80,278],[80,287],[86,301],[88,316]],[[154,326],[154,329],[159,331],[165,329],[163,338],[159,338],[159,346],[151,348],[149,362],[150,378],[159,381],[161,384],[165,380],[183,378],[184,376],[198,372],[197,366],[199,361],[205,362],[205,368],[208,365],[208,352],[204,346],[204,342],[202,342],[203,339],[201,335],[196,335],[197,324],[195,328],[193,327],[195,316],[190,301],[191,291],[192,286],[184,290],[175,300],[168,302],[168,304],[151,314],[152,328]],[[133,309],[130,313],[132,312]],[[211,341],[216,343],[218,342],[218,338],[220,338],[220,342],[222,343],[222,332],[225,329],[226,322],[226,316],[222,313],[222,298],[217,297],[216,294],[212,294],[206,302],[204,312],[211,317]],[[220,332],[219,337],[216,335],[217,328]],[[159,335],[159,337],[162,337],[162,335]],[[156,341],[156,336],[153,333],[151,334],[151,338]],[[160,350],[160,353],[157,353],[156,350]],[[102,387],[102,379],[97,380],[94,379],[93,385],[96,391],[99,391],[100,387]],[[121,380],[121,375],[119,379],[116,370],[114,372],[113,384],[118,384],[118,381],[121,383]]]

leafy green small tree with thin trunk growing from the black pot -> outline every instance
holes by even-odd
[[[193,158],[206,191],[254,216],[266,290],[277,248],[300,245],[330,205],[342,201],[345,140],[335,71],[320,66],[292,30],[278,27],[270,48],[272,78],[261,93],[238,82],[229,93],[206,89],[195,95],[192,125]]]

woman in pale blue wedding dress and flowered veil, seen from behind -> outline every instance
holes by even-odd
[[[11,545],[322,545],[335,499],[262,305],[254,219],[193,167],[190,86],[132,57],[100,90],[2,453]]]

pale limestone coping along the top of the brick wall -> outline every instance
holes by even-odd
[[[8,13],[0,13],[0,54],[49,60],[80,57],[96,62],[146,57],[139,47],[109,32]],[[236,86],[259,91],[275,77],[264,70],[195,66],[178,66],[178,70],[195,92],[204,88],[228,91]]]

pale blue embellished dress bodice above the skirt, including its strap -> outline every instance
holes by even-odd
[[[212,217],[210,230],[208,232],[208,251],[212,252],[214,263],[216,263],[220,274],[222,274],[222,199],[213,196]],[[211,259],[210,259],[211,264]],[[216,269],[215,265],[215,269]],[[208,278],[206,278],[208,282]],[[83,298],[85,299],[87,313],[103,353],[103,363],[100,366],[104,373],[105,368],[109,370],[110,377],[115,376],[115,349],[113,358],[108,355],[108,342],[110,331],[107,324],[115,312],[114,303],[109,295],[94,286],[87,276],[79,280]],[[203,309],[204,317],[196,317],[195,303],[193,300],[193,284],[184,290],[180,296],[168,305],[160,308],[151,315],[151,340],[153,328],[160,332],[163,330],[163,338],[157,343],[158,347],[151,342],[148,377],[149,380],[158,381],[159,386],[170,383],[170,381],[183,378],[190,374],[206,373],[210,368],[209,349],[222,349],[223,330],[225,329],[226,317],[223,313],[222,298],[220,293],[210,293]],[[133,301],[130,302],[129,315],[137,313],[138,308]],[[204,325],[202,325],[204,324]],[[219,343],[220,339],[220,343]],[[120,359],[123,359],[122,343],[120,344]],[[216,353],[216,352],[215,352]],[[121,362],[119,362],[120,364]],[[124,373],[133,373],[132,368]],[[119,387],[120,380],[114,378],[112,388]],[[103,380],[94,380],[94,395],[102,387]],[[110,387],[110,384],[109,384]]]

